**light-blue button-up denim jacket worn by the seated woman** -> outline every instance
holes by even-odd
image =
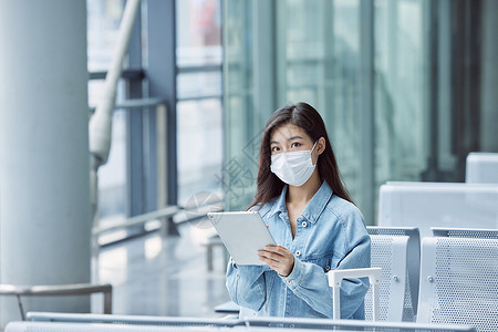
[[[282,277],[268,266],[237,266],[230,259],[228,292],[234,302],[255,310],[257,315],[332,318],[332,288],[326,272],[370,267],[370,237],[363,216],[353,204],[333,195],[323,181],[298,218],[292,239],[287,188],[258,211],[277,243],[294,255],[293,270]],[[342,319],[364,319],[367,284],[367,278],[343,280]]]

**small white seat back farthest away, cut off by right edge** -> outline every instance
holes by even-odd
[[[498,184],[498,154],[469,153],[465,168],[469,184]]]

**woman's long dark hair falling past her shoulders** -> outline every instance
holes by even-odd
[[[270,170],[270,136],[274,128],[284,124],[293,124],[302,128],[313,142],[317,142],[320,137],[325,138],[325,149],[318,158],[319,175],[329,184],[335,195],[353,203],[341,180],[338,163],[322,117],[311,105],[297,103],[277,110],[267,122],[259,154],[258,187],[251,206],[260,204],[260,207],[262,207],[270,199],[279,196],[283,189],[284,183]]]

